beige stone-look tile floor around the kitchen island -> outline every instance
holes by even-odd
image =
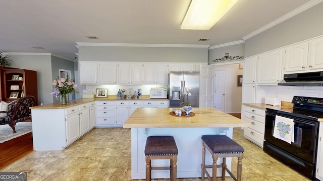
[[[26,171],[29,181],[131,180],[130,138],[130,129],[94,128],[62,151],[33,151],[0,171]],[[243,130],[235,128],[233,139],[245,149],[242,180],[309,180],[246,140],[243,137]],[[232,160],[232,168],[236,168],[236,159]],[[236,174],[235,169],[233,172]],[[218,177],[217,180],[222,179]],[[226,177],[226,180],[233,179]]]

